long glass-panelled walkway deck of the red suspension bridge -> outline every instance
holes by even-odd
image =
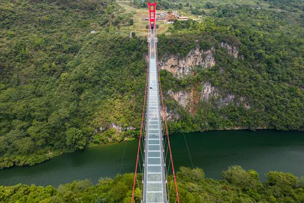
[[[153,29],[149,42],[149,73],[145,138],[144,164],[144,203],[166,203],[166,181],[162,145],[162,129],[159,105],[158,70],[156,57],[156,43]]]

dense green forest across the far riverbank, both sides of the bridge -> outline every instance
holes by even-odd
[[[180,116],[171,132],[304,129],[303,1],[178,1],[182,6],[168,8],[165,2],[161,9],[198,10],[202,20],[176,21],[159,35],[159,58],[198,47],[213,49],[216,60],[181,79],[161,71],[165,92],[200,90],[210,81],[220,95],[245,96],[251,106],[200,101],[191,114],[165,95]],[[1,1],[0,167],[138,136],[147,42],[120,31],[132,24],[132,14],[120,11],[110,0]],[[243,58],[227,54],[221,42]]]

